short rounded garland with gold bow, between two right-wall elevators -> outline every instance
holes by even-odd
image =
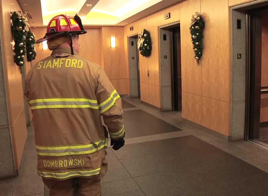
[[[151,37],[150,33],[144,29],[139,34],[138,49],[141,51],[141,55],[144,57],[149,57],[152,51]]]

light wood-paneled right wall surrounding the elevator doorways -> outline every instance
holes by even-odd
[[[164,19],[170,12],[171,18]],[[194,59],[189,23],[194,12],[201,12],[206,22],[203,58]],[[230,133],[230,63],[228,0],[184,0],[125,26],[125,55],[129,27],[138,26],[151,33],[153,51],[149,58],[140,55],[141,100],[160,105],[159,26],[180,21],[183,117],[214,131]],[[220,29],[220,31],[219,31]],[[126,59],[127,62],[127,59]],[[150,76],[147,76],[149,70]],[[158,100],[156,100],[158,99]]]

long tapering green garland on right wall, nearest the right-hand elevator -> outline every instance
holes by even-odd
[[[192,16],[192,22],[190,24],[190,32],[192,35],[192,43],[194,45],[195,59],[199,62],[203,55],[203,31],[205,28],[205,22],[202,15],[199,12],[195,12]]]

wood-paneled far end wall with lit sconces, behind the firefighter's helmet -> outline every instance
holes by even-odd
[[[46,33],[46,27],[32,29],[37,39]],[[119,94],[129,94],[129,80],[126,73],[123,27],[85,28],[88,32],[80,35],[80,55],[102,66],[108,78]],[[112,49],[110,37],[116,37],[116,48]],[[51,54],[50,50],[42,50],[42,44],[36,45],[37,63]]]

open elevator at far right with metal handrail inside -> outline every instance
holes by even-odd
[[[268,11],[249,13],[249,134],[268,145]]]

